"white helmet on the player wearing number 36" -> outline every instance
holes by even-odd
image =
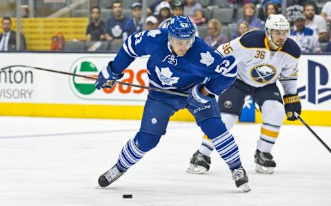
[[[274,47],[278,48],[278,46],[272,41],[272,30],[288,30],[288,37],[290,35],[290,23],[288,23],[288,19],[282,14],[270,14],[267,21],[265,21],[265,36],[268,37],[270,43],[272,43]]]

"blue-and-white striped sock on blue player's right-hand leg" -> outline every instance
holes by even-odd
[[[231,170],[241,167],[238,145],[232,134],[224,132],[214,138],[212,144]]]

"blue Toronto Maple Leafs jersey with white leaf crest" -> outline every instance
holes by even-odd
[[[135,58],[144,55],[150,55],[147,62],[150,87],[188,93],[197,83],[205,83],[210,93],[221,94],[237,76],[234,57],[223,59],[198,37],[184,56],[177,56],[170,48],[167,29],[128,37],[112,63],[113,72],[123,72]],[[150,94],[167,96],[159,92]]]

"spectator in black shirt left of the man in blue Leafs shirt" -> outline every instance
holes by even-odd
[[[86,29],[86,45],[90,41],[101,41],[106,39],[106,23],[100,19],[101,10],[99,6],[93,6],[90,9],[91,23]]]

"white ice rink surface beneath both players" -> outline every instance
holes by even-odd
[[[237,124],[252,191],[234,185],[216,152],[208,174],[188,174],[202,132],[171,122],[159,145],[118,181],[99,175],[139,130],[139,121],[0,117],[0,205],[331,205],[331,154],[303,126],[285,125],[272,151],[274,174],[254,172],[259,124]],[[312,127],[331,145],[331,127]],[[123,199],[122,194],[132,194]]]

